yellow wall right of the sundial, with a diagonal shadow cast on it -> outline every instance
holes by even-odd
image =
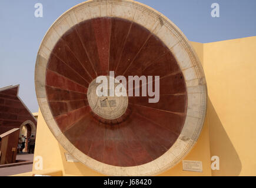
[[[204,44],[214,176],[256,175],[256,36]]]

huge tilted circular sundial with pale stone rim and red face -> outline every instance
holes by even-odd
[[[109,72],[123,76],[127,87],[129,76],[145,76],[147,95],[139,82],[127,88],[127,94],[141,89],[137,96],[98,96],[95,80],[109,80]],[[58,142],[107,175],[170,169],[204,124],[207,86],[197,54],[168,18],[135,1],[87,1],[61,15],[39,48],[35,87]]]

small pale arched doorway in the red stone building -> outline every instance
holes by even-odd
[[[20,128],[19,137],[24,135],[25,138],[26,138],[25,148],[22,150],[22,152],[28,152],[28,140],[27,140],[27,138],[29,136],[32,136],[32,135],[35,136],[35,133],[36,133],[35,124],[33,122],[31,122],[31,120],[27,120],[24,123],[22,123],[22,125],[19,128]]]

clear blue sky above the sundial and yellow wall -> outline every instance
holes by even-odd
[[[35,18],[34,5],[43,5],[43,18]],[[0,88],[20,84],[19,96],[38,111],[34,69],[36,53],[49,26],[63,12],[82,0],[0,1]],[[189,41],[215,42],[256,36],[255,0],[139,0],[157,9]],[[220,5],[220,18],[211,17],[211,5]]]

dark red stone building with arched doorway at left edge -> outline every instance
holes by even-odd
[[[5,146],[3,146],[4,142],[1,143],[2,146],[0,146],[0,149],[2,155],[8,152],[8,150],[12,150],[11,147],[8,147],[11,142],[15,141],[15,143],[12,143],[14,149],[17,147],[18,137],[21,135],[27,138],[36,134],[36,119],[19,98],[18,92],[19,85],[0,88],[0,136],[8,136],[6,133],[12,133],[11,130],[19,129],[19,133],[10,137],[8,142],[5,142]],[[27,143],[25,143],[24,151],[26,149]],[[16,150],[14,152],[16,156]],[[15,162],[15,159],[12,159],[12,161]]]

